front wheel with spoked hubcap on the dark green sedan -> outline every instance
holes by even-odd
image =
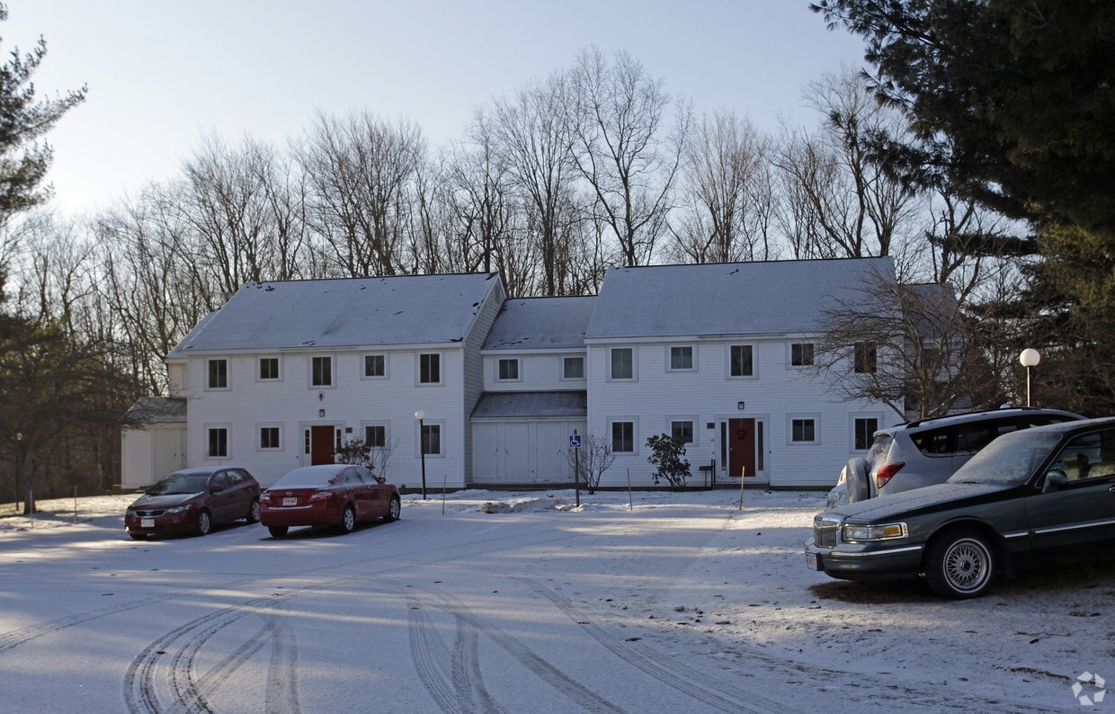
[[[986,536],[971,529],[935,538],[925,552],[925,581],[933,592],[964,600],[978,598],[991,586],[996,551]]]

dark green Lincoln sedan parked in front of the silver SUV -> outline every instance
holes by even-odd
[[[996,438],[946,483],[813,519],[809,568],[844,580],[923,575],[939,595],[982,595],[999,571],[1109,553],[1115,417]]]

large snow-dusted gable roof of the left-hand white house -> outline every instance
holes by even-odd
[[[493,295],[503,299],[498,273],[251,282],[167,359],[210,350],[458,342]]]

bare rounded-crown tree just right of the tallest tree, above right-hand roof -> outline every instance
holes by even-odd
[[[701,119],[686,151],[682,208],[670,229],[672,259],[709,263],[776,255],[768,144],[735,114]]]

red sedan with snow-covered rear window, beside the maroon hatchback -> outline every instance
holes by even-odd
[[[263,492],[260,522],[275,538],[298,525],[336,525],[349,533],[359,522],[398,520],[400,506],[398,489],[363,466],[302,466]]]

